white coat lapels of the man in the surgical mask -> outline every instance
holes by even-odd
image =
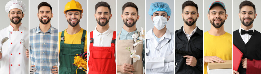
[[[152,39],[153,37],[154,36],[153,36],[153,28],[152,28],[146,33],[145,39]],[[161,37],[160,41],[163,40],[164,38],[171,39],[170,31],[168,29],[166,30],[166,33]]]

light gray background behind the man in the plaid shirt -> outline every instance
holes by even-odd
[[[30,29],[33,29],[35,27],[39,26],[39,19],[37,17],[37,13],[38,13],[38,5],[41,2],[47,2],[52,6],[52,13],[53,13],[53,18],[51,19],[51,25],[54,28],[58,28],[58,0],[30,0]],[[49,17],[51,18],[51,17]]]

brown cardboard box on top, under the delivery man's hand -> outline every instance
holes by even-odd
[[[232,60],[225,60],[223,63],[208,63],[209,69],[226,69],[232,68]]]

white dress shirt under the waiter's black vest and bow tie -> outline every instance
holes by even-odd
[[[245,30],[243,29],[241,26],[239,27],[238,31],[239,31],[239,34],[241,36],[241,38],[243,39],[243,41],[245,42],[245,44],[248,42],[248,40],[251,38],[252,35],[249,35],[249,34],[244,34],[244,35],[241,35],[241,30]],[[253,30],[253,33],[254,33],[254,27],[250,28],[249,30]],[[249,30],[245,30],[245,31],[249,31]]]

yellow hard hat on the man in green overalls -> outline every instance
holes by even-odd
[[[67,10],[82,10],[82,12],[83,12],[82,5],[79,2],[74,1],[74,0],[67,2],[67,4],[64,7],[64,14],[66,14],[65,12]]]

